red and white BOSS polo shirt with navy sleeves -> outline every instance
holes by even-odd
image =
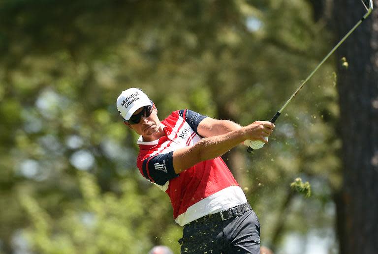
[[[200,162],[176,174],[173,151],[201,140],[199,122],[206,116],[190,110],[171,113],[161,121],[165,136],[144,142],[139,138],[137,167],[141,174],[168,194],[175,221],[185,224],[208,214],[247,202],[239,184],[221,157]]]

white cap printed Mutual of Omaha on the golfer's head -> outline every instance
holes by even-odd
[[[121,116],[128,120],[131,115],[144,106],[150,106],[151,100],[139,88],[128,88],[117,98],[117,109]]]

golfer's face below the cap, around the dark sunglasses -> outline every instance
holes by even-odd
[[[144,107],[135,111],[132,115],[137,115],[144,110]],[[158,118],[158,110],[153,105],[153,111],[148,117],[141,116],[139,123],[131,124],[129,122],[125,122],[128,127],[133,129],[139,135],[142,135],[144,140],[148,140],[149,138],[154,139],[154,134],[158,132],[160,127],[160,120]]]

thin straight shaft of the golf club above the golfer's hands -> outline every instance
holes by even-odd
[[[295,95],[297,95],[297,93],[302,89],[302,87],[311,79],[311,77],[314,75],[314,73],[317,71],[317,69],[319,69],[319,67],[329,58],[329,56],[331,56],[337,50],[337,48],[339,48],[339,46],[362,23],[362,21],[364,21],[370,15],[371,12],[372,12],[372,8],[368,9],[368,12],[357,22],[357,24],[352,29],[350,29],[347,32],[347,34],[339,41],[339,43],[336,44],[336,46],[328,53],[328,55],[325,56],[323,58],[323,60],[321,60],[321,62],[315,67],[313,72],[310,73],[310,75],[305,79],[305,81],[303,81],[303,83],[298,87],[298,89],[290,96],[290,98],[286,101],[284,106],[282,106],[282,108],[279,111],[277,111],[277,113],[273,116],[273,118],[270,120],[270,122],[274,123],[277,120],[277,118],[281,115],[281,113],[284,111],[286,106],[291,102],[291,100],[295,97]],[[247,151],[252,152],[253,148],[248,147]]]

